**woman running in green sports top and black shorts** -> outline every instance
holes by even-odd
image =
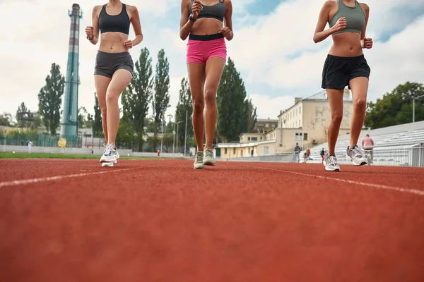
[[[363,48],[372,48],[372,39],[365,37],[370,8],[355,0],[326,1],[319,13],[314,42],[322,42],[332,35],[333,46],[324,63],[322,88],[329,97],[331,123],[329,125],[329,152],[324,156],[326,171],[340,171],[334,148],[343,118],[343,90],[352,90],[353,117],[351,145],[346,149],[346,159],[357,166],[367,164],[356,143],[365,120],[368,78],[370,67],[363,55]],[[324,30],[326,23],[329,29]]]

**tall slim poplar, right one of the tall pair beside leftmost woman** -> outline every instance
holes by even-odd
[[[158,133],[158,128],[165,118],[165,112],[170,106],[170,65],[165,57],[165,51],[158,52],[158,63],[156,63],[155,73],[155,94],[153,97],[153,116],[155,117],[154,133]],[[154,149],[157,144],[154,144]]]

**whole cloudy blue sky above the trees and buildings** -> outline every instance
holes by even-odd
[[[212,1],[212,0],[210,0]],[[218,1],[218,0],[216,0]],[[37,94],[45,85],[52,63],[66,74],[72,4],[83,11],[80,23],[78,106],[93,114],[94,63],[99,45],[88,42],[93,6],[107,1],[1,0],[0,1],[0,113],[15,114],[21,102],[37,110]],[[144,39],[131,49],[134,62],[147,47],[153,71],[160,49],[170,63],[170,108],[175,115],[179,86],[187,77],[186,44],[179,38],[180,2],[129,0],[140,13]],[[370,65],[368,100],[406,81],[424,83],[424,1],[370,0],[367,37],[372,49],[364,50]],[[227,42],[228,56],[245,81],[247,95],[257,106],[258,118],[277,118],[294,104],[295,97],[321,91],[322,66],[331,38],[312,41],[324,0],[232,0],[234,39]],[[328,25],[327,25],[328,27]],[[134,39],[134,30],[129,34]]]

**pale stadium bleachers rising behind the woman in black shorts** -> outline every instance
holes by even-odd
[[[374,140],[374,164],[382,165],[410,165],[413,147],[423,147],[424,145],[424,121],[394,125],[387,128],[375,130],[364,129],[360,133],[358,146],[361,146],[365,135],[369,134]],[[350,135],[340,135],[336,143],[336,157],[338,162],[346,164],[346,148],[350,143]],[[322,148],[328,149],[328,143],[322,143],[310,147],[312,160],[310,162],[321,163]],[[300,161],[303,161],[305,149],[300,154]],[[421,154],[421,151],[420,151]],[[309,162],[309,161],[308,161]]]

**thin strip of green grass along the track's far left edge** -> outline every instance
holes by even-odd
[[[11,153],[0,152],[0,159],[99,159],[95,154],[49,154],[49,153]],[[152,157],[126,157],[119,159],[156,159]]]

